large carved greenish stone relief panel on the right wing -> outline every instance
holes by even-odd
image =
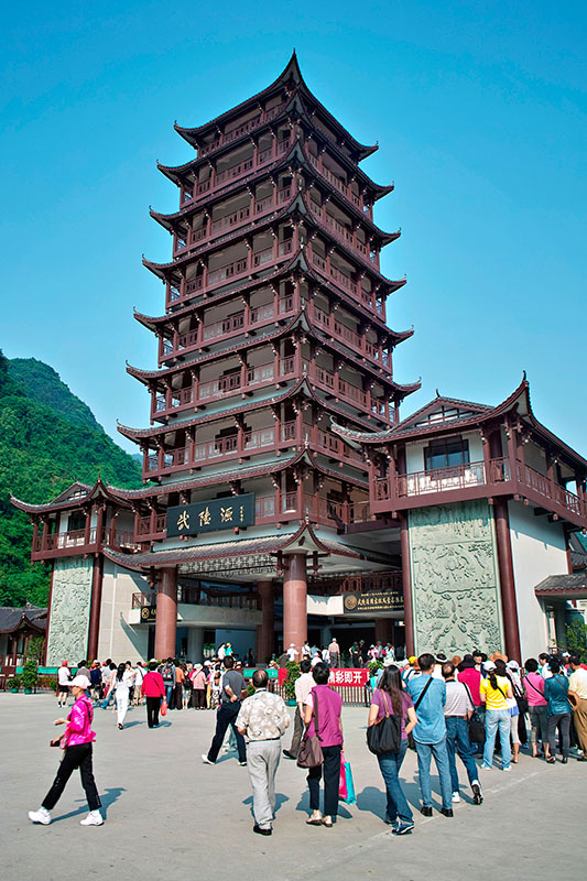
[[[410,512],[416,651],[503,649],[493,519],[485,499]]]

